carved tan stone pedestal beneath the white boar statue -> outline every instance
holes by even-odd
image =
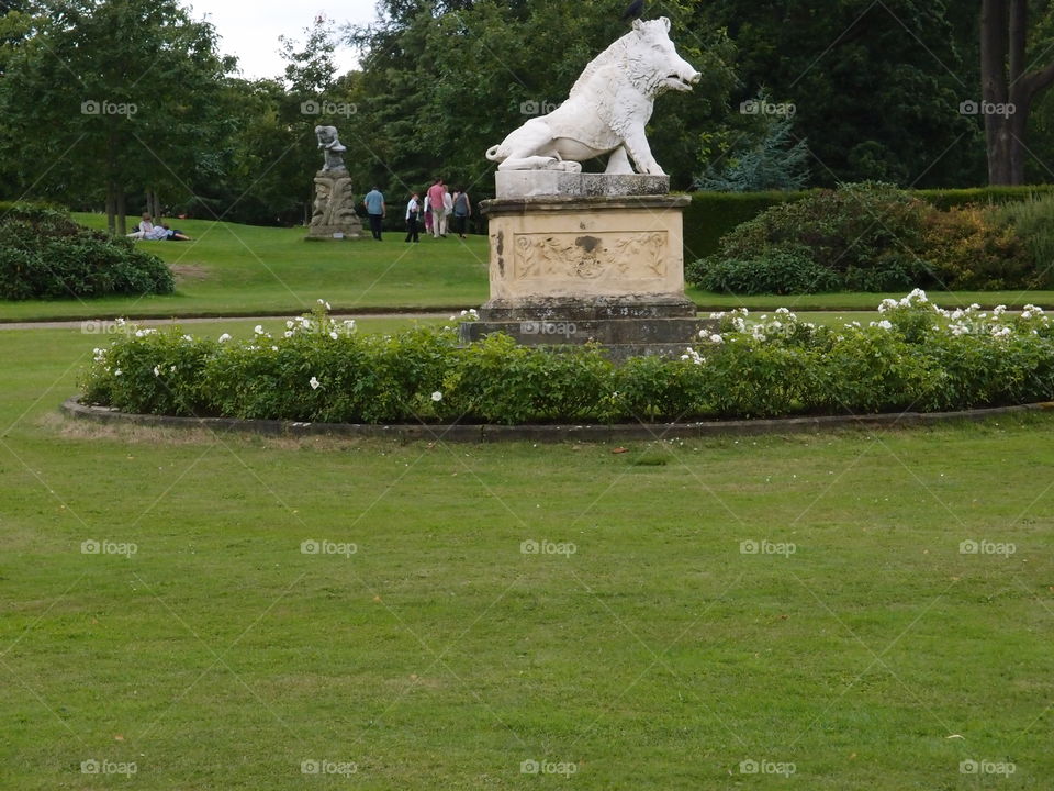
[[[466,342],[505,332],[530,345],[595,341],[613,358],[682,354],[713,322],[684,296],[682,210],[654,176],[498,172],[491,299]],[[558,193],[537,194],[538,190]]]

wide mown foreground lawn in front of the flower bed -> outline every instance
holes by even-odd
[[[55,411],[94,345],[0,332],[0,788],[1051,787],[1050,417],[625,454],[113,430]]]

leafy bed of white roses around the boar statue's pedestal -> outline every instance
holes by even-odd
[[[943,412],[1045,401],[1054,326],[1039,308],[945,311],[916,290],[882,317],[832,328],[786,309],[715,313],[680,359],[610,363],[595,346],[462,347],[453,327],[393,335],[334,321],[328,305],[237,341],[123,323],[96,349],[81,401],[123,412],[325,423],[635,423],[714,417]],[[457,321],[471,321],[466,311]]]

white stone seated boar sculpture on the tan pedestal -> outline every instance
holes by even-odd
[[[498,170],[581,171],[582,163],[610,155],[608,174],[665,176],[651,155],[644,125],[655,97],[689,91],[702,75],[670,41],[670,20],[637,20],[633,29],[585,67],[568,100],[548,115],[530,119],[486,158]]]

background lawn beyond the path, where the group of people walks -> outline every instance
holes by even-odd
[[[99,214],[76,214],[92,227],[105,226]],[[112,319],[117,315],[169,317],[271,315],[303,312],[318,298],[335,309],[470,308],[487,299],[487,245],[483,236],[461,242],[452,236],[423,236],[407,245],[403,235],[385,233],[345,243],[305,242],[303,229],[268,229],[203,220],[179,220],[189,243],[145,242],[177,272],[177,292],[166,297],[98,300],[0,301],[0,322],[48,319]],[[740,305],[772,311],[873,311],[884,297],[901,293],[731,297],[688,289],[704,311]],[[943,307],[977,302],[1020,308],[1029,302],[1054,307],[1054,291],[931,292]]]

